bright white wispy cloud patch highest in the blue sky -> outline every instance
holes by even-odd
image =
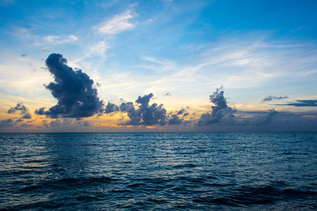
[[[126,30],[132,30],[135,27],[133,23],[129,22],[132,18],[134,18],[134,16],[131,14],[131,11],[128,10],[103,23],[101,27],[98,28],[98,32],[100,34],[119,34]]]

